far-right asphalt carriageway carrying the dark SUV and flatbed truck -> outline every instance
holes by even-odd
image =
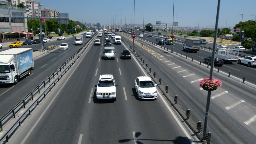
[[[139,35],[137,33],[136,33],[136,35],[137,35],[137,37],[139,37]],[[144,36],[144,39],[147,41],[151,41],[153,43],[155,43],[155,41],[156,41],[155,37],[147,37],[146,35]],[[164,44],[163,47],[171,49],[172,46]],[[212,45],[211,45],[211,47],[212,47]],[[173,48],[173,51],[182,53],[182,55],[187,55],[187,57],[189,57],[189,58],[193,57],[193,59],[196,61],[203,62],[204,58],[212,55],[212,51],[205,50],[205,49],[201,49],[197,53],[183,51],[183,45],[180,43],[175,43],[175,42],[174,42],[174,45],[172,48]],[[242,53],[242,54],[244,54],[244,53]],[[215,67],[218,68],[217,66],[215,66]],[[256,84],[256,75],[254,74],[256,72],[256,67],[248,67],[245,64],[238,64],[237,62],[233,62],[232,64],[222,65],[220,67],[220,70],[224,71],[226,73],[229,73],[229,71],[230,71],[231,75],[236,76],[240,79],[243,79],[243,77],[245,77],[246,81]]]

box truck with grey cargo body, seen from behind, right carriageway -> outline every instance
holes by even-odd
[[[201,41],[199,39],[186,39],[186,43],[183,45],[183,50],[188,52],[197,52],[200,50]]]

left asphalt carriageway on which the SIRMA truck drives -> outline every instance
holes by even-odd
[[[89,40],[89,38],[84,38],[84,43],[87,40]],[[0,84],[0,117],[4,116],[5,113],[11,110],[18,102],[20,102],[81,47],[80,45],[74,45],[74,38],[66,38],[64,41],[51,41],[50,43],[54,43],[56,45],[68,43],[69,49],[66,51],[56,49],[55,51],[48,52],[44,56],[36,58],[34,60],[35,67],[33,67],[32,74],[30,76],[23,77],[17,85]],[[27,47],[34,48],[34,46],[35,44],[28,45]],[[36,46],[40,47],[40,44],[37,44]]]

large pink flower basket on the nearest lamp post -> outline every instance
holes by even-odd
[[[217,88],[219,88],[219,86],[221,85],[222,85],[222,82],[215,78],[212,78],[212,80],[210,80],[210,78],[205,78],[202,81],[200,81],[200,84],[199,84],[199,86],[206,91],[214,91]]]

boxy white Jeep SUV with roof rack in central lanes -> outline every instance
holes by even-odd
[[[116,83],[112,74],[102,74],[99,76],[99,80],[96,90],[97,99],[111,99],[116,98]]]

